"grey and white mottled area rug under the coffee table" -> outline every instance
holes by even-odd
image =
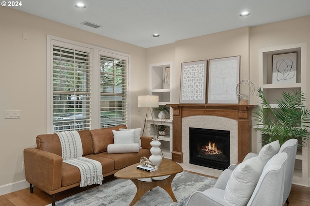
[[[155,187],[146,192],[135,206],[185,206],[191,193],[211,188],[216,181],[215,178],[182,172],[174,177],[171,184],[178,203],[173,202],[164,189]],[[136,191],[137,188],[130,179],[115,179],[57,201],[56,206],[128,206]]]

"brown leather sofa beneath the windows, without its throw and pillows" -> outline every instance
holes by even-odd
[[[141,136],[141,147],[137,153],[108,154],[107,147],[113,144],[113,132],[126,126],[79,131],[83,156],[99,161],[102,164],[103,177],[120,169],[140,162],[142,156],[150,157],[152,137]],[[57,134],[42,134],[36,137],[36,148],[24,149],[25,176],[33,186],[52,195],[55,205],[55,194],[77,187],[80,184],[80,171],[77,167],[62,162],[61,143]]]

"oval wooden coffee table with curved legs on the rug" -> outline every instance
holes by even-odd
[[[167,191],[174,202],[178,202],[171,189],[171,182],[176,174],[183,171],[183,168],[179,164],[169,159],[163,158],[163,161],[160,163],[158,170],[155,170],[154,172],[146,172],[137,169],[137,165],[139,164],[140,163],[130,165],[114,174],[116,178],[131,179],[131,181],[133,181],[137,187],[136,196],[131,201],[129,206],[133,206],[140,199],[140,197],[142,197],[143,194],[157,186]],[[162,177],[168,175],[170,176],[163,180],[153,179],[153,177]],[[152,178],[152,181],[146,182],[139,180],[142,178]]]

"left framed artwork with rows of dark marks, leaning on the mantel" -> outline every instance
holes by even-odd
[[[206,103],[207,60],[181,63],[180,103]]]

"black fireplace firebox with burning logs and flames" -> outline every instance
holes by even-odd
[[[189,163],[226,169],[230,165],[230,131],[189,128]]]

